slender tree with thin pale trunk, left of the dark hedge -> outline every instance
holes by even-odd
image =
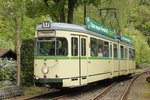
[[[20,85],[20,29],[25,13],[25,1],[24,0],[6,0],[1,2],[2,4],[2,19],[4,19],[4,25],[6,25],[6,31],[10,36],[15,37],[15,50],[17,53],[17,85]],[[6,22],[6,23],[5,23]],[[7,25],[8,24],[8,25]]]

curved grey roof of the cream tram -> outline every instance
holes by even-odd
[[[68,24],[68,23],[51,22],[50,27],[47,27],[47,28],[43,28],[42,24],[40,24],[36,27],[36,30],[37,31],[44,31],[44,30],[74,31],[74,32],[81,32],[81,33],[101,37],[101,38],[108,39],[108,40],[111,40],[111,41],[114,41],[114,42],[118,41],[118,39],[116,39],[116,38],[111,38],[111,37],[99,34],[97,32],[90,31],[90,30],[86,29],[85,26],[80,26],[80,25],[75,25],[75,24]],[[131,45],[130,43],[127,43],[127,44]]]

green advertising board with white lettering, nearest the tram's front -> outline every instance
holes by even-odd
[[[112,29],[101,25],[100,23],[90,19],[89,17],[86,18],[86,28],[93,32],[97,32],[99,34],[115,38],[115,32]]]

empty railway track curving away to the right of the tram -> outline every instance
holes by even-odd
[[[134,75],[134,77],[131,80],[127,80],[127,82],[125,83],[126,86],[124,87],[124,89],[122,89],[124,91],[119,90],[120,93],[117,92],[118,89],[117,89],[117,91],[113,91],[115,86],[120,84],[120,83],[114,82],[109,87],[104,89],[104,91],[102,91],[100,94],[98,94],[97,96],[95,96],[94,98],[92,98],[90,100],[107,100],[107,99],[109,99],[109,100],[126,100],[128,94],[129,94],[130,88],[131,88],[132,84],[134,83],[134,81],[136,81],[136,79],[138,77],[140,77],[141,75],[143,75],[145,73],[150,73],[150,71],[145,71],[145,72],[143,72],[141,74]],[[115,92],[118,93],[118,94],[115,94]],[[113,95],[116,96],[116,97],[113,97]]]

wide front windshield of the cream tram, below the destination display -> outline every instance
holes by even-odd
[[[40,37],[36,39],[37,56],[67,56],[68,42],[62,37]]]

